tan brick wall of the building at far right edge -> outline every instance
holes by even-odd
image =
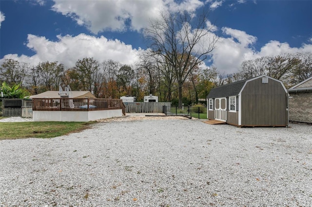
[[[312,123],[312,92],[289,93],[289,95],[289,121]]]

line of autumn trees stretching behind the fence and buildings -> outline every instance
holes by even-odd
[[[312,77],[312,53],[295,53],[261,57],[243,61],[239,72],[220,73],[216,68],[194,67],[182,84],[182,102],[198,103],[211,88],[223,84],[268,75],[281,80],[289,88]],[[119,99],[136,96],[142,101],[153,94],[162,102],[178,104],[180,84],[173,70],[162,67],[143,56],[135,65],[122,65],[113,60],[98,62],[94,58],[78,60],[75,67],[65,68],[58,62],[41,62],[37,66],[5,59],[0,67],[0,85],[20,85],[29,95],[70,86],[72,90],[88,90],[98,98]],[[27,94],[27,93],[26,93]]]

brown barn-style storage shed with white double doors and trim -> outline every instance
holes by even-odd
[[[207,117],[237,126],[287,126],[287,99],[281,81],[261,75],[211,89]]]

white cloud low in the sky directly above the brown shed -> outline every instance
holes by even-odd
[[[215,50],[212,52],[213,66],[218,71],[230,74],[238,72],[244,60],[251,60],[263,56],[275,56],[283,53],[312,52],[312,44],[303,44],[300,48],[292,48],[288,43],[270,41],[255,51],[257,38],[244,31],[222,28],[230,37],[220,37]]]

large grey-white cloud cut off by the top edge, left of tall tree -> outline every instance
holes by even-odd
[[[151,18],[159,11],[187,9],[194,11],[203,6],[200,0],[54,0],[52,10],[73,18],[79,25],[86,26],[92,33],[102,31],[137,30],[148,26]]]

